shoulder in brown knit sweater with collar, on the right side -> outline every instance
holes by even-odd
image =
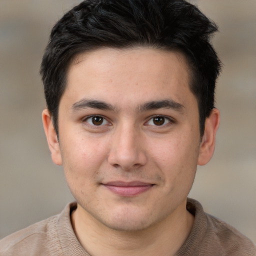
[[[203,256],[256,255],[255,245],[249,238],[224,221],[205,213],[198,201],[188,198],[187,210],[194,215],[194,223],[177,255],[183,255],[185,251]]]

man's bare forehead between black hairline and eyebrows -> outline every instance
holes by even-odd
[[[101,48],[75,57],[63,96],[76,101],[100,97],[106,102],[117,102],[119,97],[129,104],[166,97],[183,101],[185,94],[191,94],[189,80],[186,59],[179,52]]]

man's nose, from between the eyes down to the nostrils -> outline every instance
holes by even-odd
[[[138,168],[146,163],[143,136],[132,125],[122,125],[112,136],[108,162],[124,170]]]

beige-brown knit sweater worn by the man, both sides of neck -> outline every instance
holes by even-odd
[[[75,208],[76,203],[70,203],[60,214],[6,236],[0,240],[0,256],[89,256],[71,226],[70,212]],[[194,224],[176,256],[256,255],[248,238],[204,213],[199,202],[188,199],[187,209],[195,216]]]

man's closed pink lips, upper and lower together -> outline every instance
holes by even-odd
[[[154,184],[141,181],[111,181],[102,184],[111,192],[120,196],[135,196],[150,189]]]

